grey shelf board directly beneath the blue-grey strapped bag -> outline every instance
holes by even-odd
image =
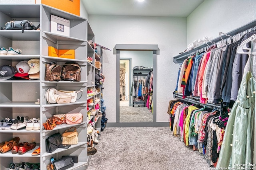
[[[8,38],[12,41],[39,41],[40,30],[0,30],[0,36]]]

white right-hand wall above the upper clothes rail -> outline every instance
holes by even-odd
[[[204,0],[187,18],[187,45],[204,36],[211,39],[256,19],[255,0]]]

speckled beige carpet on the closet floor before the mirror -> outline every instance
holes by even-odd
[[[87,170],[210,170],[169,127],[106,127]]]

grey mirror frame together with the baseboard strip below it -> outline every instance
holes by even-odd
[[[153,122],[120,122],[120,51],[153,51]],[[116,122],[108,123],[108,127],[154,127],[166,126],[166,122],[156,122],[156,71],[157,59],[159,55],[158,45],[148,44],[116,44],[113,49],[116,55]]]

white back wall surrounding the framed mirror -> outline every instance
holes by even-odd
[[[186,49],[186,18],[140,16],[90,16],[96,43],[109,49],[116,44],[157,44],[157,122],[168,122],[168,102],[172,99],[178,74],[173,56]],[[116,55],[103,51],[104,104],[108,122],[116,122]]]

